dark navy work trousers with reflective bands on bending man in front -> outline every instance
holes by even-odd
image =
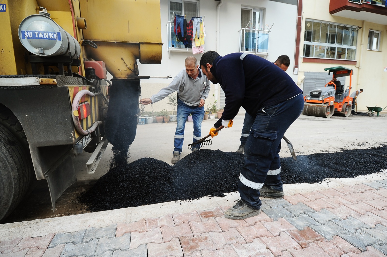
[[[238,191],[241,199],[253,209],[260,209],[259,190],[267,185],[283,190],[279,151],[286,130],[300,116],[304,108],[302,94],[282,103],[262,108],[257,113],[245,145]]]

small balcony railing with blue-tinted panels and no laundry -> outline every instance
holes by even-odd
[[[249,52],[257,55],[269,54],[269,33],[264,29],[239,30],[239,51],[241,53]]]

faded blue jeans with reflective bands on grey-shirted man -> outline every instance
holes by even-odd
[[[204,106],[189,106],[183,103],[182,100],[177,100],[177,126],[175,132],[175,150],[179,153],[183,151],[183,140],[184,140],[184,128],[185,122],[189,115],[192,115],[194,122],[194,135],[192,142],[195,143],[202,138],[202,121],[204,117]],[[192,148],[200,148],[200,144]]]

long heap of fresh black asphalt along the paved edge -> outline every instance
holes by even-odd
[[[286,150],[284,150],[286,151]],[[286,184],[316,183],[327,178],[353,178],[387,169],[387,147],[281,158]],[[160,202],[224,196],[238,190],[243,155],[201,149],[174,166],[141,158],[115,166],[80,197],[90,211],[104,211]]]

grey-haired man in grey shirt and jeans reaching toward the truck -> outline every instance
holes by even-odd
[[[175,149],[171,163],[180,160],[183,151],[184,127],[188,116],[192,115],[194,122],[194,135],[192,142],[202,138],[202,120],[204,116],[204,100],[210,91],[210,81],[202,74],[195,57],[185,58],[185,70],[179,72],[169,86],[162,88],[159,93],[151,98],[141,99],[143,105],[156,103],[166,96],[177,91],[177,126],[175,132]],[[198,150],[200,144],[192,147],[192,152]]]

